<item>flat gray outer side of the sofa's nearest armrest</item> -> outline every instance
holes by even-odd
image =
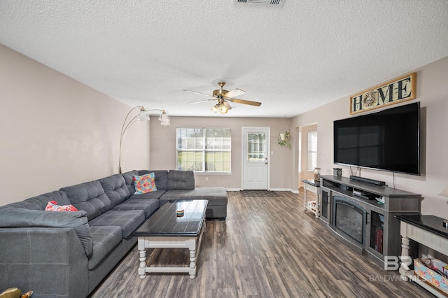
[[[0,239],[0,289],[87,297],[87,256],[72,227],[0,228]]]

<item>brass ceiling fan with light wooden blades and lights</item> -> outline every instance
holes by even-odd
[[[238,89],[238,88],[235,89],[235,90],[232,90],[232,91],[223,90],[224,85],[225,85],[225,82],[219,82],[218,86],[220,88],[217,89],[217,90],[214,90],[213,95],[209,95],[209,94],[205,94],[205,93],[197,92],[197,91],[192,91],[192,90],[183,90],[183,91],[205,95],[206,97],[211,97],[210,99],[204,99],[204,100],[200,100],[200,101],[193,101],[193,102],[189,102],[188,104],[199,104],[201,102],[214,101],[214,100],[217,99],[218,100],[218,104],[216,104],[215,106],[213,106],[213,108],[211,108],[211,110],[214,111],[215,113],[218,113],[218,111],[220,111],[221,114],[225,114],[229,110],[231,110],[232,107],[230,106],[228,101],[235,102],[236,104],[249,104],[251,106],[260,106],[261,105],[261,103],[258,102],[258,101],[250,101],[250,100],[244,100],[244,99],[235,99],[234,97],[237,97],[237,96],[239,96],[241,94],[244,94],[246,92],[241,90],[241,89]]]

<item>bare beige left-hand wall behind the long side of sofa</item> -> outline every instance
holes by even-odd
[[[0,205],[118,173],[130,106],[3,45],[0,65]],[[130,130],[124,170],[148,167],[148,132]]]

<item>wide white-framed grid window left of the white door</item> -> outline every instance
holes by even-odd
[[[176,169],[230,173],[230,129],[176,129]]]

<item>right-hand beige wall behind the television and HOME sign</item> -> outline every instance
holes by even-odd
[[[398,189],[421,194],[424,198],[421,204],[422,214],[448,218],[448,198],[438,195],[448,186],[448,57],[421,69],[409,70],[408,73],[414,71],[417,74],[416,99],[393,106],[421,102],[423,173],[421,176],[395,173],[394,178],[391,172],[362,169],[361,176],[386,181],[390,187],[395,185]],[[402,73],[405,74],[407,73]],[[372,86],[365,86],[365,89],[379,83],[381,82],[372,82]],[[353,90],[353,94],[360,91],[362,90]],[[293,127],[318,123],[318,166],[322,168],[323,175],[332,175],[332,168],[336,166],[332,159],[332,125],[334,120],[350,117],[349,99],[350,95],[293,118]],[[351,175],[348,166],[337,167],[342,167],[343,176]]]

